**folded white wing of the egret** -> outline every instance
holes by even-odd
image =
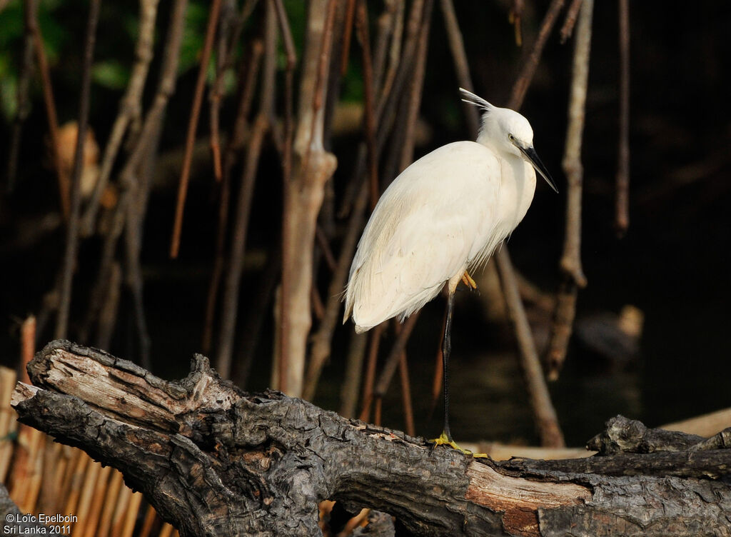
[[[346,288],[363,329],[430,301],[482,249],[499,192],[499,164],[484,146],[452,143],[414,162],[379,200]]]

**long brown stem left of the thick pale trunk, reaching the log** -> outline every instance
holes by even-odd
[[[265,18],[265,57],[262,73],[262,90],[259,113],[251,130],[246,160],[241,171],[241,186],[236,203],[233,233],[230,241],[230,260],[224,278],[224,295],[221,304],[221,328],[219,330],[216,369],[223,378],[230,378],[234,332],[238,315],[238,295],[246,251],[246,235],[249,227],[251,199],[254,181],[259,167],[264,136],[270,128],[269,118],[273,107],[274,78],[276,76],[276,14],[272,4],[267,4]]]

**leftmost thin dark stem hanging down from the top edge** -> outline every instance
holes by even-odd
[[[23,4],[23,26],[25,27],[25,35],[23,39],[23,63],[20,65],[20,75],[18,75],[18,88],[15,91],[17,98],[17,107],[15,111],[15,119],[12,122],[12,138],[10,139],[10,154],[7,159],[7,184],[6,189],[11,192],[15,187],[15,173],[18,170],[18,154],[20,152],[20,138],[23,132],[23,124],[30,112],[30,102],[28,99],[28,87],[33,72],[33,20],[36,8],[34,1],[26,1]]]

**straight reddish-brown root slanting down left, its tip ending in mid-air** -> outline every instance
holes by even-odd
[[[203,50],[201,51],[200,69],[198,70],[198,80],[195,86],[195,95],[193,97],[193,105],[190,113],[190,121],[188,123],[188,134],[186,136],[186,151],[183,157],[183,170],[181,171],[181,181],[178,187],[178,203],[175,206],[175,222],[173,223],[173,239],[170,242],[170,257],[178,257],[178,249],[180,249],[181,233],[183,230],[183,211],[185,210],[185,200],[188,193],[188,180],[190,177],[190,165],[193,158],[193,145],[195,143],[195,131],[198,127],[198,118],[200,116],[200,106],[203,99],[203,90],[205,89],[205,75],[208,71],[208,61],[211,59],[213,50],[213,39],[216,36],[216,25],[219,20],[219,12],[221,10],[221,0],[213,0],[211,4],[211,12],[208,14],[208,28],[205,31],[205,41],[203,42]]]

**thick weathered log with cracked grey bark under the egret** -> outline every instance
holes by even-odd
[[[200,355],[167,382],[56,341],[29,373],[36,386],[12,399],[20,420],[117,467],[182,536],[317,536],[325,499],[425,536],[731,536],[725,449],[481,461],[279,392],[245,394]]]

